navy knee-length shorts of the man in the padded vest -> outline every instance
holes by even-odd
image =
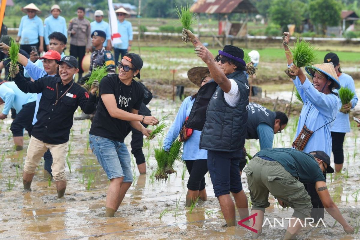
[[[243,190],[239,169],[242,151],[207,151],[207,168],[216,197]]]

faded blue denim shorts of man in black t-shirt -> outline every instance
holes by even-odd
[[[131,159],[125,143],[105,137],[89,135],[91,151],[96,155],[108,180],[124,177],[124,182],[132,182]]]

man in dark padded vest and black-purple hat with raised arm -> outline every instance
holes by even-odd
[[[187,126],[202,131],[200,148],[208,150],[208,169],[215,196],[227,226],[235,226],[235,205],[230,192],[240,218],[249,214],[239,174],[249,103],[244,51],[226,45],[215,62],[203,45],[195,47],[195,54],[207,64],[213,80],[198,91]]]

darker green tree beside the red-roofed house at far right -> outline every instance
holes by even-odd
[[[341,20],[341,4],[336,0],[311,0],[309,3],[310,20],[315,26],[321,26],[326,34],[328,26],[338,26]]]

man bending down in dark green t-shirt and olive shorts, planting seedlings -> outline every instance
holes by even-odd
[[[265,208],[270,206],[269,193],[282,207],[294,209],[292,217],[296,220],[289,224],[284,239],[295,239],[311,212],[311,199],[303,185],[309,183],[315,184],[327,212],[343,226],[344,231],[354,232],[330,197],[323,173],[333,173],[334,169],[324,151],[308,154],[292,148],[264,149],[251,159],[244,172],[252,201],[251,215],[256,214],[249,225],[257,230],[252,232],[253,239],[261,235]]]

